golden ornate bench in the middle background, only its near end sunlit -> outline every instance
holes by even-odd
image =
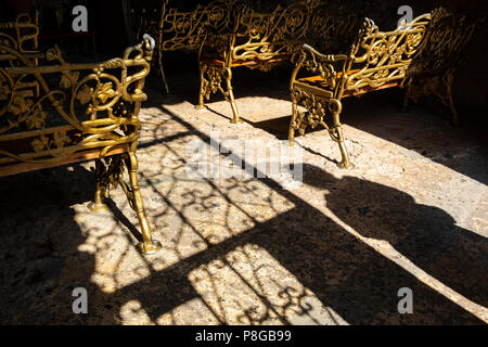
[[[242,8],[234,12],[231,33],[207,33],[198,56],[201,89],[197,107],[204,108],[204,100],[220,91],[231,104],[232,123],[240,123],[232,91],[232,68],[245,66],[267,72],[275,64],[290,61],[300,40],[305,39],[309,13],[305,1],[287,8],[279,5],[270,13]]]

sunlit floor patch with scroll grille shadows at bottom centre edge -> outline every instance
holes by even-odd
[[[347,324],[253,244],[202,265],[189,280],[226,324]]]

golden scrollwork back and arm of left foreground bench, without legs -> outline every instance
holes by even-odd
[[[0,165],[56,162],[84,150],[103,154],[134,143],[153,49],[154,40],[145,37],[123,57],[69,64],[54,48],[36,66],[29,53],[0,43]],[[29,76],[39,94],[18,94]]]

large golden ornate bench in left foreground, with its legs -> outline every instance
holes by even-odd
[[[95,159],[97,188],[91,210],[104,210],[103,198],[120,185],[136,210],[143,241],[153,241],[138,183],[138,118],[150,73],[154,40],[128,48],[123,57],[99,64],[69,64],[59,49],[43,54],[21,52],[0,43],[0,176]],[[36,65],[31,57],[39,59]],[[40,86],[38,95],[20,95],[27,78]],[[123,179],[127,168],[129,183]]]

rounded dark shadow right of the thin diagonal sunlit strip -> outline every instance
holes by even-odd
[[[487,307],[488,240],[445,210],[357,177],[335,179],[304,164],[304,182],[325,189],[326,207],[362,236],[384,240],[444,284]]]

